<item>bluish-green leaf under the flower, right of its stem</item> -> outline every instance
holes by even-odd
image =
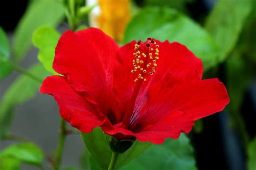
[[[153,145],[121,169],[194,170],[197,167],[190,140],[181,134],[178,139],[167,139],[163,145]]]

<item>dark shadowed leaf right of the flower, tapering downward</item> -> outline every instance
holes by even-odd
[[[230,96],[227,108],[232,116],[234,125],[238,128],[241,140],[244,144],[248,141],[244,119],[240,114],[241,104],[244,100],[246,89],[253,77],[255,77],[255,66],[251,62],[233,54],[226,60],[226,87]]]

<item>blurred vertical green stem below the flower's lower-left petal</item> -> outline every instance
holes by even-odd
[[[64,143],[65,143],[65,138],[66,138],[66,122],[62,117],[60,117],[59,141],[58,141],[55,164],[54,164],[55,170],[59,169],[60,161],[62,160],[62,153],[63,153]]]

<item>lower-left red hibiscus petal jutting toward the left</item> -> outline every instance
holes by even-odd
[[[59,105],[60,116],[82,132],[91,132],[104,122],[104,116],[95,111],[83,95],[74,91],[65,77],[46,77],[40,91],[52,95]]]

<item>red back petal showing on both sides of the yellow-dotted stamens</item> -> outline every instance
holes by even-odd
[[[132,41],[121,47],[118,52],[118,62],[114,70],[114,92],[116,93],[121,110],[125,110],[127,107],[129,108],[131,106],[134,107],[132,108],[134,112],[130,120],[131,123],[135,122],[139,117],[139,112],[148,98],[147,91],[154,83],[166,79],[166,76],[169,74],[184,76],[190,80],[200,80],[203,73],[201,60],[194,56],[184,45],[178,42],[155,41],[159,45],[158,66],[153,76],[147,75],[146,82],[133,82],[134,74],[131,73],[131,70],[133,69],[132,60],[134,59],[134,44],[136,44],[136,41]],[[136,101],[131,100],[131,103],[135,103],[132,105],[129,100],[133,94],[134,87],[138,86],[139,83],[142,85]],[[131,116],[124,117],[124,122],[127,122],[127,119],[130,119]]]

